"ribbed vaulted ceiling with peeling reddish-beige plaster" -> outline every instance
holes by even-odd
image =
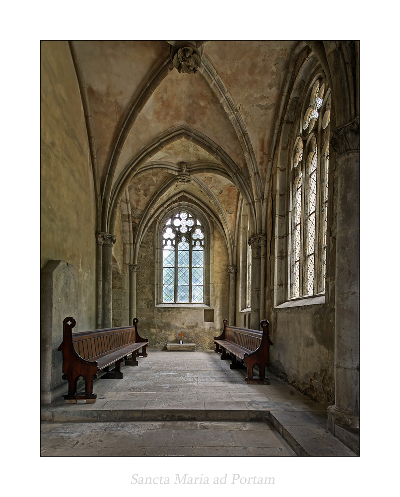
[[[196,74],[172,67],[178,42],[72,42],[88,102],[103,229],[127,189],[137,224],[150,202],[155,208],[182,191],[210,204],[219,219],[223,212],[232,235],[240,196],[247,205],[263,200],[298,42],[191,43],[202,51]],[[181,163],[191,182],[175,181]],[[259,217],[255,212],[255,223]]]

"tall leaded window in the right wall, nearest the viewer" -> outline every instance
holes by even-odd
[[[291,167],[290,299],[325,291],[331,94],[318,77],[306,95]]]

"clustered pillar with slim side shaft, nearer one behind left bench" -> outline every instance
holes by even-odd
[[[110,233],[96,233],[97,242],[97,328],[112,327],[113,246],[117,241]],[[100,279],[99,279],[100,278]],[[101,323],[99,318],[101,315]]]

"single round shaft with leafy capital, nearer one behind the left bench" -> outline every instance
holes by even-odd
[[[113,246],[117,241],[115,235],[98,233],[103,246],[102,253],[102,320],[101,328],[112,327],[113,307]]]

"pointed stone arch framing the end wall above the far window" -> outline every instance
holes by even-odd
[[[192,199],[193,203],[189,204],[189,202],[180,201],[179,198],[183,194],[186,197]],[[204,218],[206,215],[208,215],[210,218],[212,218],[212,220],[215,222],[215,224],[221,230],[221,233],[224,237],[226,247],[228,249],[229,261],[230,261],[229,263],[233,264],[233,262],[231,262],[231,261],[233,260],[234,244],[233,244],[232,236],[230,236],[230,237],[228,236],[229,235],[229,228],[228,228],[227,223],[225,225],[222,224],[221,221],[219,220],[219,218],[215,215],[215,213],[206,204],[204,204],[201,200],[199,200],[197,197],[193,196],[192,194],[185,192],[185,191],[182,191],[182,190],[175,193],[171,197],[169,197],[161,205],[154,208],[152,210],[152,212],[150,211],[150,209],[148,209],[147,216],[142,217],[142,219],[140,220],[140,223],[137,227],[136,239],[135,239],[134,244],[133,244],[133,263],[137,264],[137,257],[138,257],[138,253],[139,253],[140,244],[141,244],[143,237],[147,231],[147,228],[154,222],[154,220],[156,220],[157,218],[162,216],[163,212],[170,212],[170,211],[177,209],[178,207],[187,208],[189,210],[195,209],[196,211],[199,211],[201,213],[201,215],[199,216],[200,219]],[[166,219],[167,214],[165,214],[164,217]],[[206,219],[206,221],[208,224],[207,219]],[[209,226],[208,226],[208,230],[209,230],[209,233],[211,233]]]

